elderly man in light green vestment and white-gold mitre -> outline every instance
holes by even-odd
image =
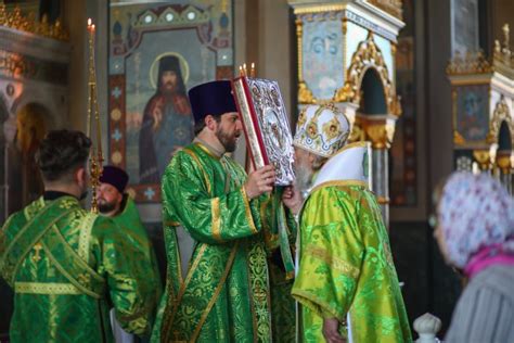
[[[292,294],[304,342],[410,342],[387,230],[371,191],[368,142],[347,144],[349,122],[333,104],[308,106],[294,138],[299,265]]]

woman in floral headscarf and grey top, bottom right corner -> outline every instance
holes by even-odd
[[[487,175],[455,173],[434,232],[446,262],[468,278],[445,342],[514,342],[514,200]]]

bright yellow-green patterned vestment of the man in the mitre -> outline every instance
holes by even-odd
[[[352,342],[411,342],[409,321],[380,206],[351,181],[314,189],[300,217],[299,270],[304,342],[324,342],[323,318],[346,322]],[[342,326],[347,336],[347,327]]]

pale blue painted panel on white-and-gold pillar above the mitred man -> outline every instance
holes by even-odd
[[[342,25],[340,20],[329,17],[304,21],[303,76],[316,99],[332,99],[343,87]]]

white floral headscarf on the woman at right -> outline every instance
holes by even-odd
[[[438,221],[448,259],[459,268],[486,246],[514,252],[514,200],[490,176],[454,173],[442,189]]]

